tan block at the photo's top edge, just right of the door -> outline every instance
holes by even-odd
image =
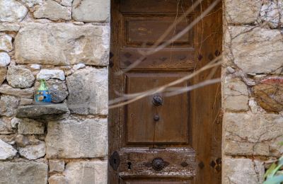
[[[225,18],[228,23],[254,23],[261,8],[261,0],[225,0]]]

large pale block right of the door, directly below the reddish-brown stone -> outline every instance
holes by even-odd
[[[280,156],[283,146],[270,143],[283,139],[283,117],[275,114],[226,113],[224,153],[229,155]]]

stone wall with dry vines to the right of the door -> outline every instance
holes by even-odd
[[[262,183],[283,154],[283,1],[224,1],[222,183]]]

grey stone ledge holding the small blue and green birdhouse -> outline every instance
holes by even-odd
[[[45,115],[60,115],[69,112],[67,105],[64,103],[48,105],[28,105],[21,106],[16,112],[18,118],[36,118]]]

